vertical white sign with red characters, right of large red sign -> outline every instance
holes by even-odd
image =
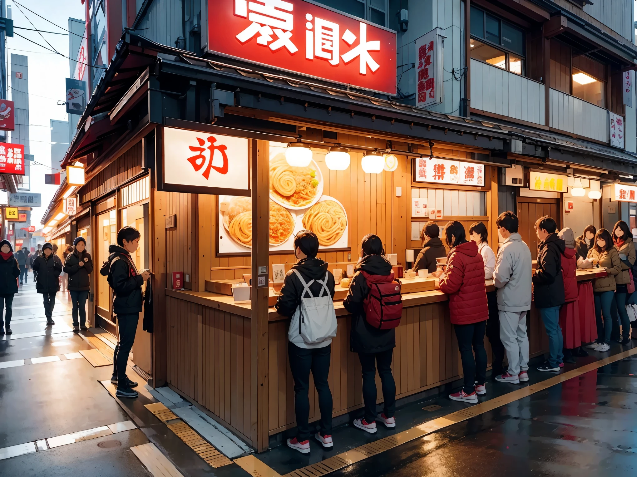
[[[443,34],[434,28],[415,41],[416,106],[427,108],[442,103]]]

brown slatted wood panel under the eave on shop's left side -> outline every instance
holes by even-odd
[[[92,201],[141,173],[141,142],[97,173],[80,189],[80,202]]]

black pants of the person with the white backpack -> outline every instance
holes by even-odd
[[[296,439],[306,441],[310,437],[310,371],[318,392],[318,409],[320,410],[321,434],[332,434],[332,392],[329,390],[327,375],[332,345],[323,348],[299,348],[288,343],[287,352],[290,358],[290,369],[294,378],[294,411],[296,412]]]

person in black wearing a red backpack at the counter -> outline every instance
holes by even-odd
[[[396,383],[392,375],[392,355],[396,347],[394,328],[400,322],[403,302],[400,283],[394,281],[392,264],[383,257],[383,242],[373,234],[361,241],[361,259],[343,301],[352,313],[350,349],[358,353],[362,368],[362,397],[365,414],[354,426],[371,434],[376,420],[396,427]],[[376,415],[376,367],[383,390],[383,412]]]

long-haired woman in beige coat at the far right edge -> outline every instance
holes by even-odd
[[[613,320],[611,339],[617,340],[622,345],[628,345],[631,342],[631,320],[628,318],[626,311],[626,299],[628,298],[627,285],[633,281],[630,270],[635,262],[635,245],[633,243],[633,234],[629,231],[628,225],[624,220],[618,220],[613,228],[613,244],[619,252],[622,271],[615,277],[615,283],[617,284],[615,303],[610,308],[610,316]],[[617,320],[617,315],[619,315],[619,320]],[[622,325],[622,334],[619,333],[620,323]]]

